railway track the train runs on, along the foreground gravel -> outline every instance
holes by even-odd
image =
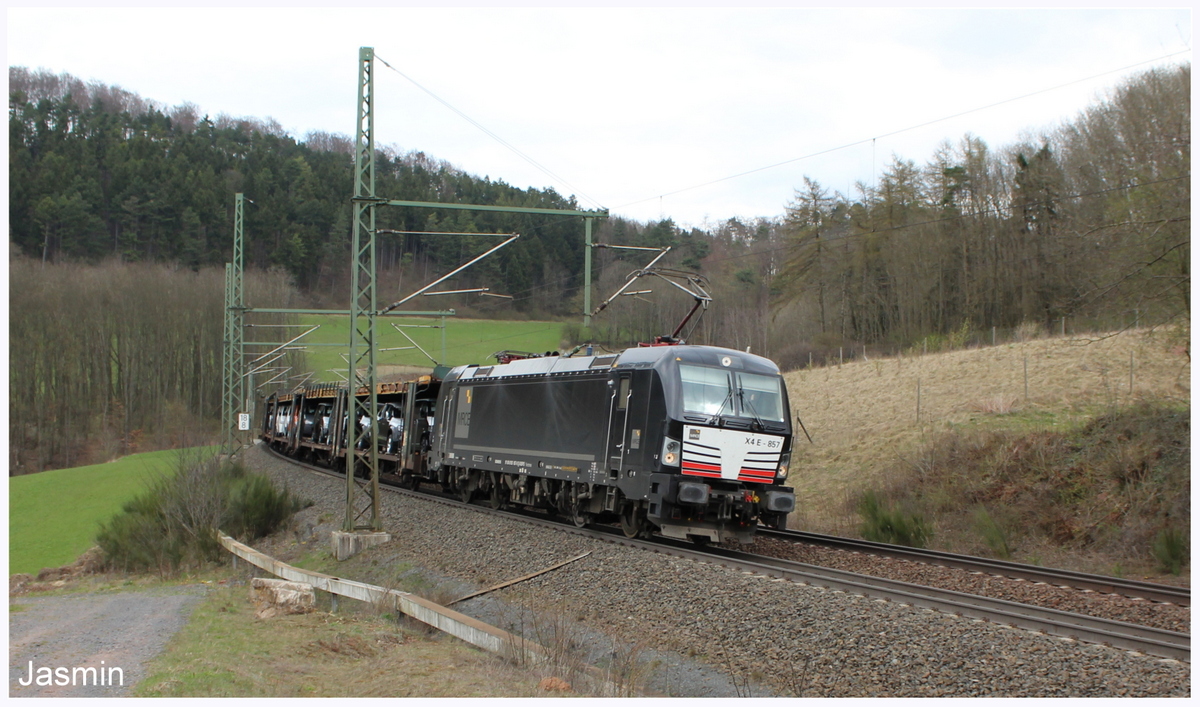
[[[290,457],[278,455],[274,450],[271,450],[271,453],[278,459],[295,466],[340,479],[344,478],[341,473],[298,462]],[[616,528],[577,528],[569,521],[551,520],[540,514],[529,511],[493,510],[480,505],[463,503],[462,501],[446,496],[400,489],[395,484],[386,483],[385,479],[380,479],[380,485],[389,491],[419,497],[434,503],[442,503],[456,508],[469,508],[476,513],[500,515],[538,526],[551,527],[566,533],[574,533],[581,537],[600,539],[650,552],[666,553],[700,562],[716,563],[732,569],[738,569],[740,571],[779,577],[797,583],[817,586],[833,591],[860,594],[882,601],[896,601],[905,605],[929,609],[931,611],[971,617],[984,622],[1010,625],[1063,639],[1072,639],[1087,643],[1099,643],[1124,651],[1135,651],[1148,655],[1190,663],[1189,634],[1141,627],[1079,613],[1069,613],[1054,609],[1007,601],[1003,599],[965,594],[936,587],[925,587],[896,580],[872,577],[845,570],[820,568],[799,562],[730,550],[726,547],[697,547],[691,544],[679,543],[665,538],[656,538],[654,540],[630,539],[624,537],[624,534]],[[764,531],[761,529],[760,532]],[[883,545],[883,547],[892,549],[894,546]],[[1042,568],[1032,569],[1040,570]]]

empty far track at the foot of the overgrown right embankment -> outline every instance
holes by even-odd
[[[791,543],[809,543],[812,545],[836,547],[839,550],[856,550],[868,555],[883,555],[887,557],[898,557],[901,559],[911,559],[914,562],[924,562],[928,564],[937,564],[954,569],[980,571],[1010,579],[1045,582],[1048,585],[1066,586],[1076,589],[1091,589],[1093,592],[1102,592],[1105,594],[1135,597],[1164,604],[1177,604],[1180,606],[1192,605],[1192,589],[1188,587],[1172,587],[1170,585],[1159,585],[1156,582],[1105,577],[1103,575],[1090,575],[1067,569],[1043,568],[1032,564],[1021,564],[1019,562],[972,557],[968,555],[955,555],[953,552],[906,547],[904,545],[889,545],[887,543],[874,543],[854,538],[822,535],[820,533],[806,533],[803,531],[775,531],[758,528],[758,534],[763,538],[779,538]]]

